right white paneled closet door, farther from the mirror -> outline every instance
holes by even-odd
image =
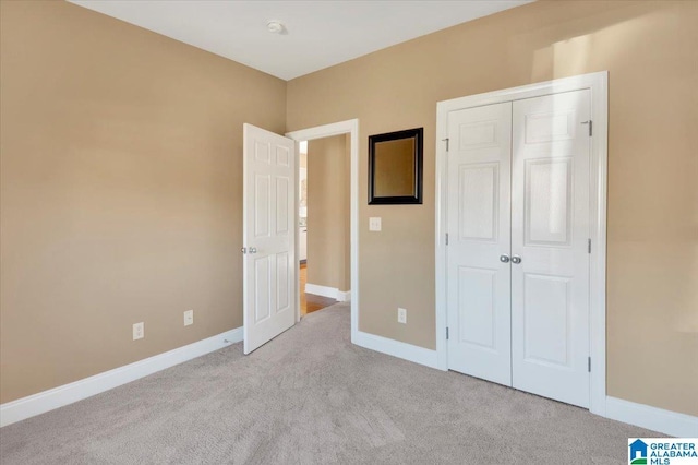
[[[514,102],[513,385],[589,406],[589,91]],[[520,263],[517,257],[520,257]]]

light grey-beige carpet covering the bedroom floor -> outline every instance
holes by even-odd
[[[626,464],[658,436],[351,345],[349,307],[0,430],[10,464]]]

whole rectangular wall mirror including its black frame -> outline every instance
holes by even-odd
[[[369,136],[369,205],[422,203],[424,128]]]

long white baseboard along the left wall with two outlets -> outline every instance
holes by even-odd
[[[12,425],[55,408],[109,391],[140,378],[191,360],[242,341],[242,327],[227,331],[173,350],[166,351],[104,373],[39,392],[0,405],[0,427]]]

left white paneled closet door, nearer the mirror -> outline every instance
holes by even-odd
[[[448,115],[448,368],[512,384],[512,104]]]

